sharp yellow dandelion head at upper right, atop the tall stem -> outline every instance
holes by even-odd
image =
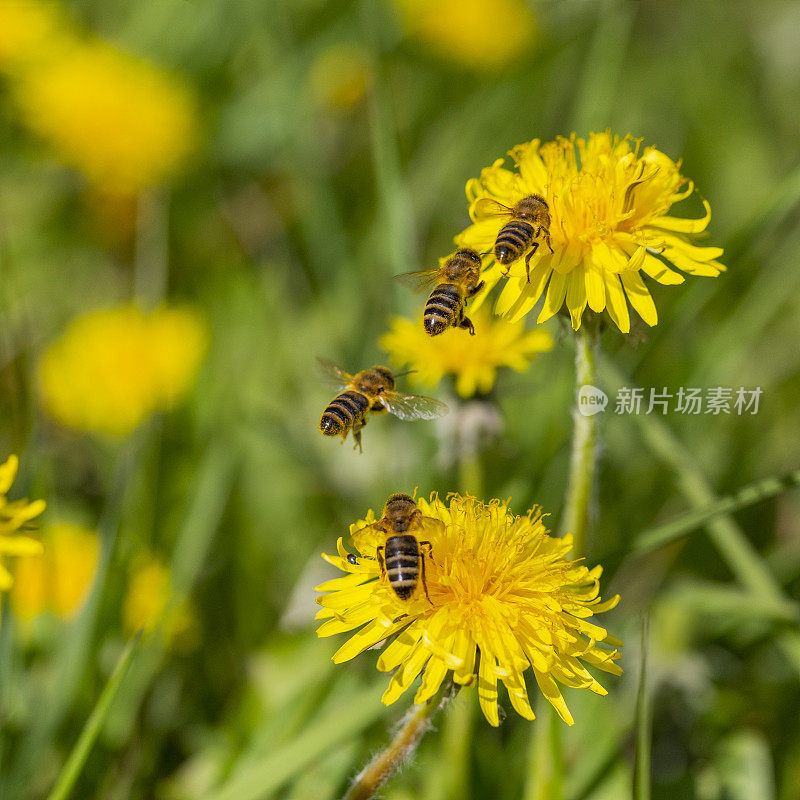
[[[623,332],[630,331],[628,303],[648,324],[658,322],[650,290],[640,275],[662,284],[682,283],[683,275],[717,276],[725,267],[716,259],[720,247],[698,247],[694,234],[706,229],[711,208],[703,200],[699,219],[668,216],[674,203],[688,197],[694,184],[674,162],[655,147],[610,133],[592,133],[588,141],[574,135],[540,144],[538,139],[510,151],[515,169],[496,161],[467,183],[473,224],[456,237],[459,247],[491,250],[505,217],[484,217],[476,203],[489,198],[513,207],[523,197],[543,196],[550,206],[551,253],[540,246],[530,260],[530,283],[525,259],[511,265],[508,281],[495,312],[521,319],[542,295],[538,321],[550,319],[566,303],[572,327],[581,325],[588,307],[603,310]],[[492,256],[482,275],[482,302],[505,267]]]

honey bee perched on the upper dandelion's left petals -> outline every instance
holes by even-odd
[[[525,256],[525,272],[528,283],[531,282],[531,257],[539,249],[540,236],[547,243],[550,252],[553,245],[550,243],[550,206],[540,194],[531,194],[523,197],[513,208],[483,197],[475,204],[475,218],[477,220],[487,217],[510,217],[510,221],[500,228],[494,242],[494,257],[500,264],[505,264],[508,275],[511,264],[522,256],[530,247],[530,252]]]

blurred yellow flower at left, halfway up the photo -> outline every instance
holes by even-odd
[[[207,341],[186,308],[120,306],[79,317],[40,363],[45,406],[69,427],[125,436],[188,392]]]

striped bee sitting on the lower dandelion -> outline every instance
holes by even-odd
[[[365,537],[373,533],[380,537],[383,544],[377,547],[376,556],[381,579],[389,581],[389,586],[400,600],[411,597],[421,577],[425,597],[430,603],[425,580],[425,558],[431,557],[433,545],[427,540],[420,541],[420,538],[437,533],[443,527],[444,523],[440,520],[423,516],[411,495],[398,493],[386,501],[383,516],[372,525],[362,528],[355,536]]]

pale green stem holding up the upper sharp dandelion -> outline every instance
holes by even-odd
[[[590,502],[594,486],[595,455],[597,450],[597,418],[584,416],[578,409],[578,392],[581,386],[594,384],[596,375],[597,328],[587,320],[575,334],[575,409],[572,432],[572,456],[569,483],[561,517],[561,535],[574,537],[573,554],[580,558],[586,550],[589,529]]]

